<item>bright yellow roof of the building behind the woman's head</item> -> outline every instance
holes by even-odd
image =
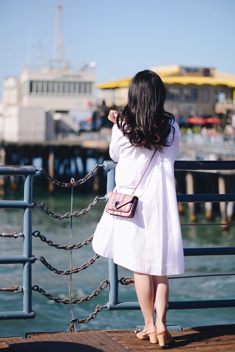
[[[195,84],[198,86],[227,86],[235,88],[235,75],[230,75],[222,72],[215,71],[214,77],[204,76],[169,76],[164,73],[159,73],[164,84]],[[122,80],[105,82],[96,84],[96,88],[110,89],[128,87],[132,77],[124,78]]]

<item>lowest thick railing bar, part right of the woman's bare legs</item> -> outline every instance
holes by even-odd
[[[205,309],[235,307],[235,300],[168,302],[168,309]]]

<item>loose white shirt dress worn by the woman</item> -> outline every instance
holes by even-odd
[[[132,271],[150,275],[184,273],[174,161],[180,131],[176,122],[174,140],[163,152],[156,152],[134,195],[139,201],[133,218],[105,212],[96,227],[93,249],[103,257]],[[172,142],[173,131],[168,137]],[[110,157],[115,169],[117,192],[132,194],[153,155],[153,150],[131,146],[117,125],[113,126]]]

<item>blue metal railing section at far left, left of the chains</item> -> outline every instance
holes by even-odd
[[[0,175],[24,176],[24,200],[0,200],[0,208],[23,209],[23,254],[0,256],[0,264],[23,264],[23,310],[0,312],[0,319],[32,319],[32,279],[31,265],[35,262],[32,255],[32,201],[33,176],[36,174],[35,166],[0,166]]]

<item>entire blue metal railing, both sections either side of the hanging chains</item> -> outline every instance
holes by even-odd
[[[107,175],[107,193],[115,187],[115,167],[113,161],[104,161],[103,167],[108,171]],[[235,170],[235,161],[176,161],[175,170]],[[0,256],[0,264],[23,264],[23,310],[0,312],[0,320],[6,319],[32,319],[35,313],[32,311],[32,283],[31,283],[31,265],[36,261],[32,255],[32,209],[35,204],[32,201],[33,176],[36,174],[35,166],[0,166],[0,175],[24,176],[24,200],[1,200],[0,208],[23,209],[24,210],[24,237],[23,255],[6,255]],[[107,200],[107,196],[106,196]],[[192,194],[177,195],[179,202],[224,202],[235,201],[235,194]],[[21,234],[21,233],[20,233]],[[222,248],[186,248],[185,256],[208,256],[208,255],[234,255],[235,247]],[[195,276],[197,277],[197,276]],[[119,302],[118,301],[118,284],[121,279],[118,278],[118,266],[109,259],[109,302],[108,310],[116,309],[140,309],[138,302]],[[235,300],[208,300],[208,301],[183,301],[169,302],[168,309],[195,309],[195,308],[224,308],[235,307]]]

